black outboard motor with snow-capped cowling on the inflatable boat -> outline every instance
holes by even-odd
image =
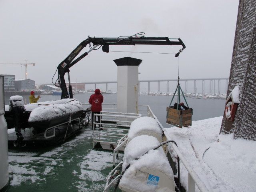
[[[17,135],[17,140],[14,141],[14,146],[25,146],[22,140],[24,137],[21,134],[22,129],[22,118],[25,112],[24,101],[22,96],[16,95],[11,96],[9,100],[9,112],[13,115],[15,121],[15,132]]]

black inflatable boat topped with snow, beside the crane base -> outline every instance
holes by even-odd
[[[9,128],[25,129],[33,127],[33,133],[79,118],[83,113],[82,104],[76,99],[24,104],[22,96],[10,97],[5,106],[5,119]]]

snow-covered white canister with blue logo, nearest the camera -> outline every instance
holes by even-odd
[[[122,192],[175,192],[174,175],[160,143],[140,135],[127,144],[119,188]]]

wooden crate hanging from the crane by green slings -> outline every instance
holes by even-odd
[[[169,109],[169,110],[168,110]],[[167,107],[166,123],[182,128],[192,125],[192,108],[187,110],[177,110]]]

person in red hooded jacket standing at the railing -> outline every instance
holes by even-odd
[[[103,103],[103,96],[100,93],[99,89],[94,91],[95,93],[90,96],[89,103],[92,104],[92,129],[93,129],[93,122],[96,122],[96,116],[94,118],[94,113],[100,114],[102,111],[101,104]],[[98,116],[98,122],[100,122],[100,116]],[[100,126],[102,127],[102,125]],[[95,127],[94,127],[95,128]],[[102,130],[102,128],[100,128]]]

